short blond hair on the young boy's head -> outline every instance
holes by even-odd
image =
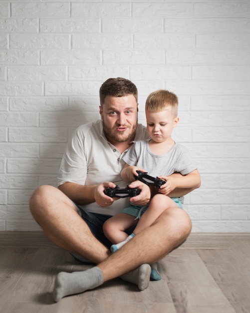
[[[178,96],[168,90],[156,90],[147,97],[145,109],[148,112],[160,112],[171,108],[175,117],[178,114]]]

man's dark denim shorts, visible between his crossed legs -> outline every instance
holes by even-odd
[[[74,203],[75,204],[75,203]],[[82,219],[86,222],[92,234],[101,241],[108,249],[110,249],[112,243],[105,237],[103,232],[103,224],[104,222],[110,218],[112,215],[105,215],[99,213],[88,212],[82,209],[80,206],[75,204],[77,208],[78,214],[82,217]],[[128,234],[131,234],[135,228],[135,225],[126,230]],[[84,244],[84,242],[83,242]],[[75,259],[84,263],[92,263],[90,260],[84,258],[83,256],[76,254],[74,252],[69,252]]]

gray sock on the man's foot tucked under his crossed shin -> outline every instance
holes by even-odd
[[[120,276],[121,279],[129,281],[138,285],[140,290],[144,290],[148,287],[150,281],[151,266],[149,264],[142,264]]]

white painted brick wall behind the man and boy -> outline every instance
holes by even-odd
[[[180,99],[176,141],[202,187],[193,231],[250,231],[250,0],[1,0],[0,230],[36,230],[28,199],[56,185],[73,129],[98,117],[98,90],[123,76],[139,121],[156,89]]]

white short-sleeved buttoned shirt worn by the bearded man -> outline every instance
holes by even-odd
[[[134,140],[149,138],[147,129],[138,124]],[[102,120],[79,126],[68,141],[58,172],[58,186],[65,182],[82,185],[99,184],[112,181],[120,188],[127,183],[121,179],[124,166],[122,157],[127,150],[119,150],[107,141],[102,127]],[[129,198],[121,198],[108,207],[101,207],[96,202],[81,207],[87,211],[115,215],[129,204]]]

